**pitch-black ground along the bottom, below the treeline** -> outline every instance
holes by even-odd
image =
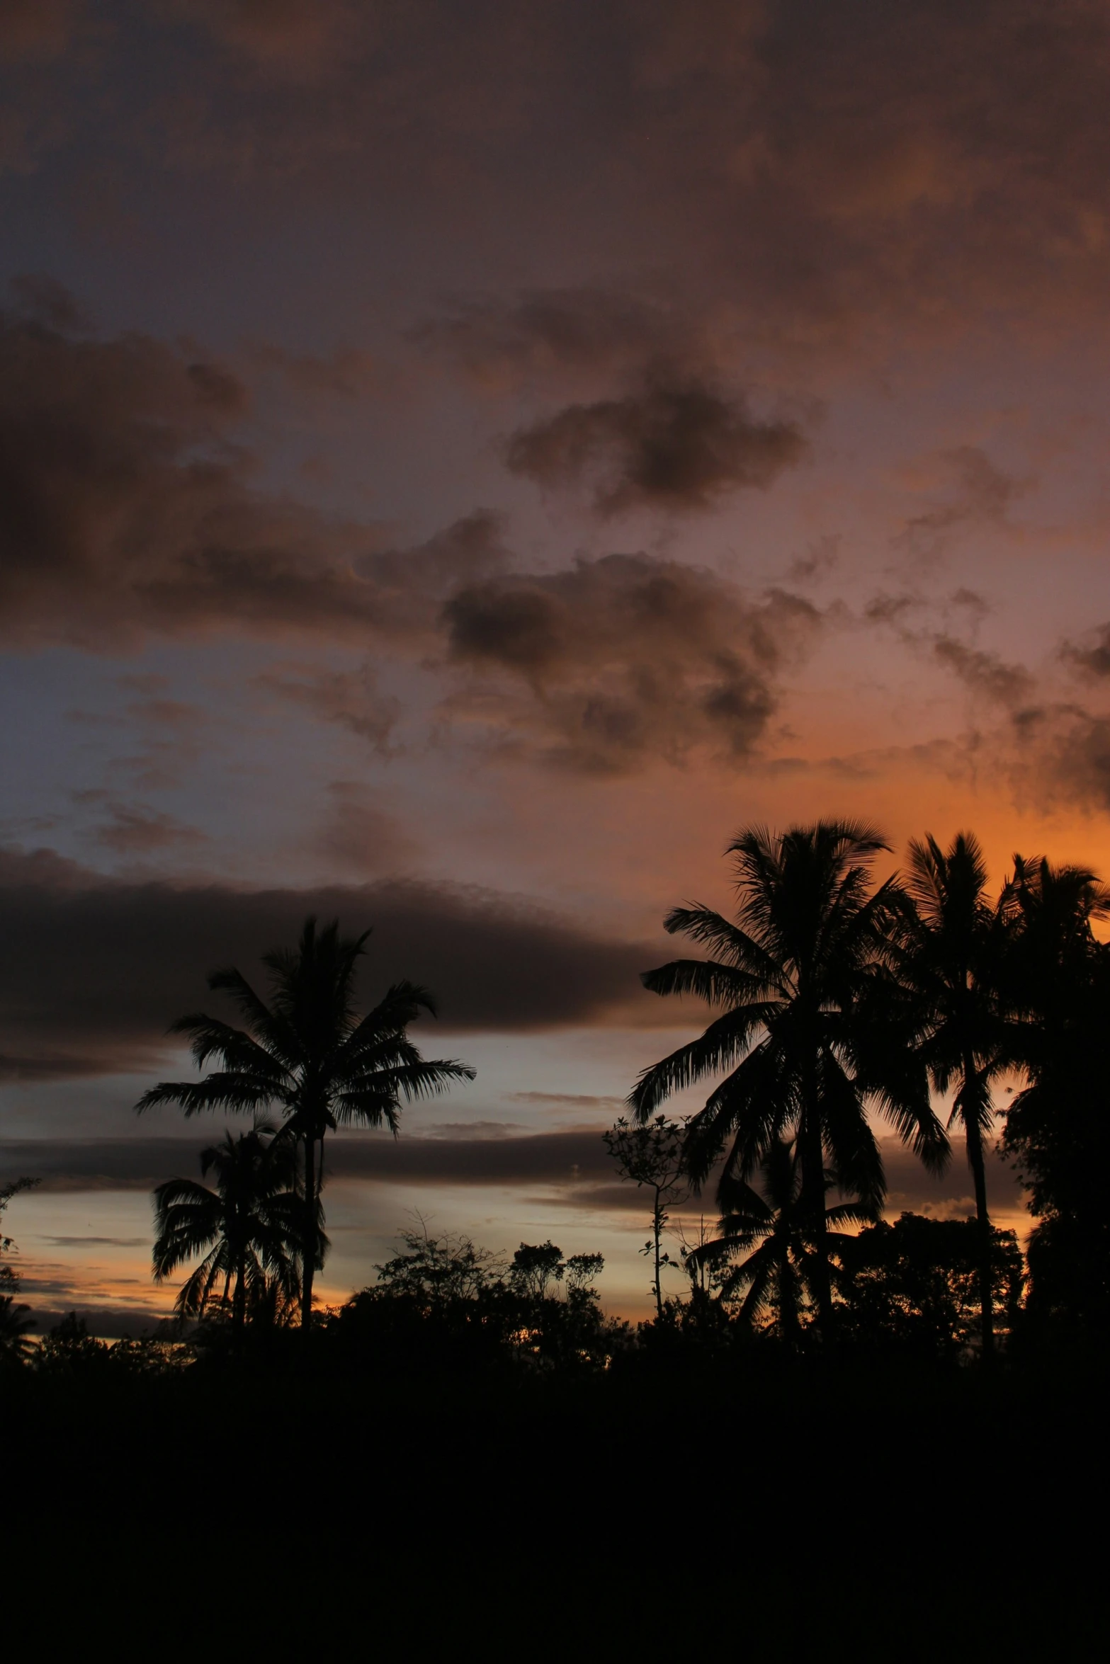
[[[13,1657],[20,1634],[126,1659],[1110,1644],[1098,1368],[286,1358],[2,1391]]]

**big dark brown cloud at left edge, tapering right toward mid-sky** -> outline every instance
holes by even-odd
[[[255,491],[248,406],[190,348],[0,318],[0,634],[98,649],[213,629],[398,641],[504,561],[489,514],[374,552],[364,527]]]

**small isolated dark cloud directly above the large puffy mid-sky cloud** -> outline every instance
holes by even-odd
[[[543,486],[589,483],[594,508],[707,509],[741,486],[769,486],[805,451],[792,421],[759,421],[701,379],[567,404],[513,434],[506,463]]]

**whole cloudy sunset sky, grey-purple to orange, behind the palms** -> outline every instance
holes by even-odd
[[[646,1311],[599,1130],[739,827],[1110,870],[1110,5],[0,0],[0,83],[25,1298],[168,1311],[218,1128],[133,1103],[316,912],[478,1068],[336,1140],[325,1298],[424,1218]]]

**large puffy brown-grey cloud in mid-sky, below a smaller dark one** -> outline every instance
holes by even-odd
[[[797,596],[751,602],[712,572],[644,554],[493,577],[461,589],[444,621],[451,661],[478,677],[456,717],[601,772],[697,745],[747,755],[777,674],[820,627]]]

